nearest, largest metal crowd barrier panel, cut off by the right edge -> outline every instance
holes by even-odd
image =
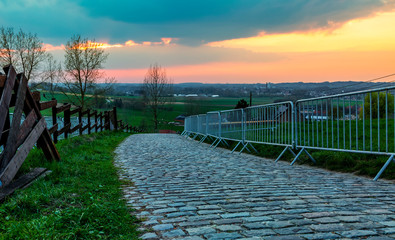
[[[296,101],[295,143],[306,149],[395,155],[395,87]],[[308,154],[310,159],[315,160]]]

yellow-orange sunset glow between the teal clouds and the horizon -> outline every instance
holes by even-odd
[[[179,45],[176,38],[161,38],[161,42],[128,40],[123,44],[103,42],[99,45],[108,48],[110,54],[111,51],[119,52],[120,50],[115,49],[121,48],[122,54],[130,56],[131,59],[138,59],[142,54],[146,54],[146,48],[172,46],[166,48],[166,51],[152,49],[151,55],[146,59],[152,59],[152,63],[157,61],[158,56],[162,57],[162,60],[181,59],[174,61],[176,63],[173,65],[166,61],[159,62],[166,68],[168,76],[175,83],[365,81],[395,72],[393,23],[395,23],[395,11],[354,19],[342,25],[333,24],[331,30],[282,34],[262,32],[254,37],[211,42],[193,47],[193,53],[187,56],[196,57],[199,61],[184,65],[182,65],[184,63],[182,57],[185,56],[178,54],[182,55],[189,47]],[[44,46],[49,51],[64,49],[63,45],[45,44]],[[178,51],[173,51],[173,47]],[[220,56],[214,58],[216,60],[210,60],[207,51],[213,52],[211,48],[229,49],[229,51],[241,49],[254,57],[251,57],[253,60],[243,61],[238,58],[239,55],[236,57],[224,55],[225,57]],[[270,59],[267,53],[274,53],[279,57]],[[119,61],[125,60],[127,61],[126,57]],[[112,65],[116,66],[116,64]],[[131,61],[130,68],[105,69],[105,72],[107,76],[115,77],[118,82],[141,83],[148,67],[149,64],[146,68],[141,68],[141,65],[134,67]],[[393,80],[395,79],[389,79],[389,81]]]

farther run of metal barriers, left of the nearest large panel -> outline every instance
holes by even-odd
[[[190,122],[204,116],[206,120],[199,121],[199,130],[195,131],[195,126],[191,126]],[[186,118],[184,132],[193,134],[194,138],[203,136],[201,142],[207,137],[214,138],[211,147],[217,147],[220,143],[229,146],[227,140],[236,141],[238,143],[232,152],[239,146],[242,146],[240,153],[245,149],[250,152],[249,147],[257,152],[251,143],[284,146],[284,151],[276,159],[278,161],[287,150],[296,156],[292,151],[293,128],[293,103],[281,102],[190,116]]]

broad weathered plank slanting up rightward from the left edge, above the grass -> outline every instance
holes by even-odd
[[[2,186],[8,185],[15,177],[15,174],[22,166],[22,163],[25,161],[30,150],[33,148],[34,144],[37,142],[38,138],[41,136],[45,128],[45,119],[41,118],[40,121],[33,128],[33,130],[30,132],[29,136],[27,136],[25,142],[12,157],[7,167],[1,173],[0,184]]]

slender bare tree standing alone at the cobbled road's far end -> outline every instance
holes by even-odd
[[[158,129],[159,112],[168,101],[171,89],[172,83],[166,70],[158,64],[151,65],[144,78],[143,91],[148,109],[152,113],[155,130]]]

